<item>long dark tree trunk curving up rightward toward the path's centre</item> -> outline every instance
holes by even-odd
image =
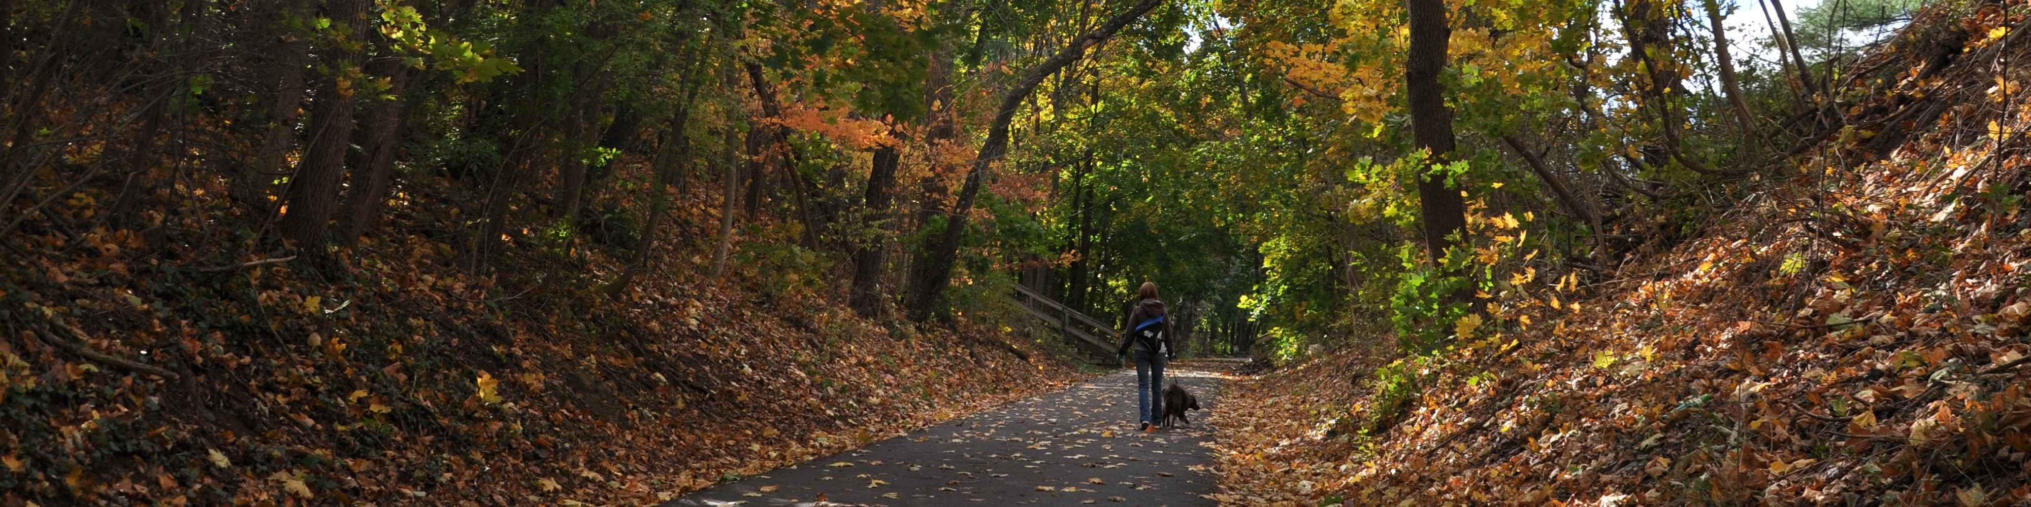
[[[1058,69],[1064,69],[1072,61],[1083,59],[1087,55],[1087,49],[1105,43],[1109,37],[1121,30],[1121,26],[1127,26],[1143,12],[1156,8],[1158,4],[1162,4],[1162,0],[1141,0],[1127,12],[1115,14],[1113,18],[1107,20],[1107,24],[1101,24],[1099,30],[1074,39],[1072,45],[1064,47],[1062,51],[1040,63],[1036,69],[1030,69],[1030,73],[1026,73],[1022,81],[1016,81],[1016,87],[1011,87],[1005,95],[1001,95],[1001,107],[995,110],[995,120],[987,128],[987,142],[981,146],[981,152],[973,158],[973,168],[967,170],[967,183],[961,187],[959,199],[953,201],[953,209],[944,213],[946,217],[944,231],[924,239],[926,266],[924,270],[918,270],[920,278],[910,290],[910,304],[908,304],[910,320],[930,318],[932,304],[944,292],[944,286],[951,284],[953,280],[953,264],[959,262],[959,239],[965,237],[967,231],[967,213],[973,211],[973,199],[981,193],[981,178],[985,178],[987,168],[999,162],[1001,156],[1007,154],[1009,122],[1016,120],[1016,107],[1022,107],[1022,101],[1030,97],[1030,91],[1036,91],[1036,87],[1044,83],[1046,77],[1050,77]]]

